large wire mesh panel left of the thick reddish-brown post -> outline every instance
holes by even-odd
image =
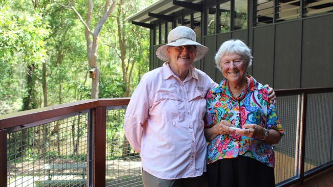
[[[87,126],[84,113],[9,130],[7,186],[87,186]]]

